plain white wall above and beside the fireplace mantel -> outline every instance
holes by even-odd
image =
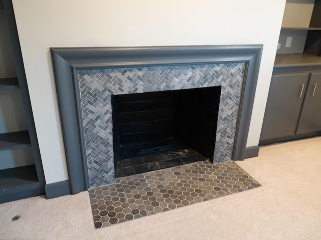
[[[13,0],[47,183],[68,179],[49,47],[264,44],[257,145],[285,0]]]

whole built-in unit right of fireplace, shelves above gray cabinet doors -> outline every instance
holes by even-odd
[[[259,145],[321,135],[321,0],[287,0]]]

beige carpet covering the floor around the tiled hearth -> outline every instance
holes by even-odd
[[[88,192],[3,203],[0,239],[321,239],[320,156],[321,137],[266,146],[237,161],[261,187],[99,229]]]

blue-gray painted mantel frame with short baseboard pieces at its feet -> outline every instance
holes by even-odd
[[[231,136],[234,137],[234,144],[230,158],[241,160],[255,155],[258,148],[251,147],[247,150],[246,141],[262,49],[262,45],[51,48],[69,180],[48,184],[47,198],[70,193],[76,194],[93,186],[89,181],[89,160],[87,161],[88,154],[86,152],[88,139],[85,138],[84,123],[86,119],[83,118],[82,107],[84,105],[81,101],[84,97],[80,90],[80,84],[84,82],[84,80],[80,82],[81,77],[85,76],[84,73],[106,71],[112,73],[117,69],[124,68],[164,70],[172,69],[173,66],[183,66],[184,69],[188,69],[189,66],[242,66],[243,79],[240,82],[241,92],[238,96],[236,129]],[[178,86],[175,87],[177,89]],[[189,87],[187,86],[187,88]],[[231,85],[230,87],[233,88]],[[114,92],[114,90],[110,91]],[[152,91],[152,89],[147,88],[147,91]],[[131,91],[129,92],[131,93]]]

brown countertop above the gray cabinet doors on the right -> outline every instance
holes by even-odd
[[[274,67],[321,65],[321,57],[306,53],[276,54]]]

